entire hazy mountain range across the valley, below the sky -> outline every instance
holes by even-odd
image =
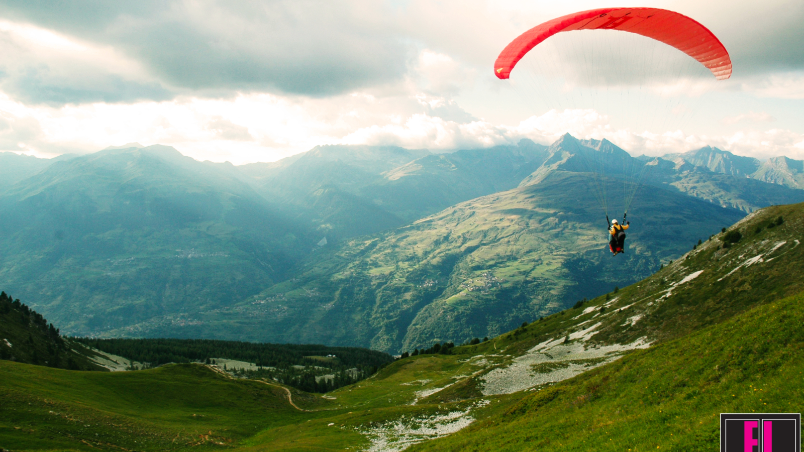
[[[569,135],[449,154],[318,146],[243,166],[136,143],[53,160],[0,154],[0,283],[76,335],[461,342],[804,200],[788,158],[632,158]],[[631,195],[613,259],[606,208],[619,216]]]

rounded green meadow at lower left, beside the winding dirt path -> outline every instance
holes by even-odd
[[[8,450],[219,449],[306,420],[284,389],[199,364],[69,372],[0,361],[0,393]]]

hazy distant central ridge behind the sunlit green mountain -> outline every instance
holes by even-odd
[[[392,146],[317,146],[272,164],[244,165],[256,190],[342,240],[400,226],[454,203],[516,187],[544,146],[431,154]]]

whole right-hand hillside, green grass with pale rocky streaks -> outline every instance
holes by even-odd
[[[719,413],[800,413],[804,282],[791,269],[804,262],[802,232],[804,204],[762,209],[634,286],[495,339],[532,347],[507,371],[530,364],[520,388],[541,384],[503,415],[412,450],[712,450]],[[617,343],[654,346],[577,368]]]

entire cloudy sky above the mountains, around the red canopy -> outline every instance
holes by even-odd
[[[323,144],[454,150],[570,132],[632,154],[804,158],[804,2],[721,5],[617,2],[704,23],[734,64],[716,82],[611,31],[556,35],[511,80],[494,76],[511,39],[599,1],[3,0],[0,151],[161,143],[241,164]]]

